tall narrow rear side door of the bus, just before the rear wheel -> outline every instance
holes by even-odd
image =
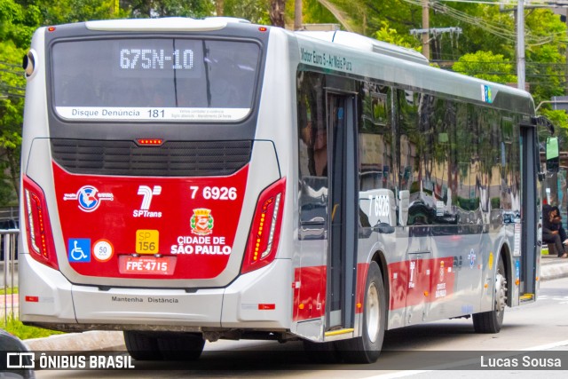
[[[326,328],[353,328],[357,268],[355,97],[327,92],[329,215]],[[336,333],[334,333],[336,334]]]

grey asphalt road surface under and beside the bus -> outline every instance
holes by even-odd
[[[546,280],[540,285],[534,304],[507,308],[504,326],[496,335],[476,334],[471,320],[443,320],[387,332],[380,359],[371,365],[312,364],[301,343],[220,341],[207,343],[201,359],[195,362],[133,361],[136,368],[115,371],[42,370],[43,378],[393,378],[479,377],[516,375],[564,377],[568,369],[568,278]],[[121,351],[115,354],[125,355]],[[544,354],[544,355],[542,355]],[[481,367],[481,361],[505,359],[560,359],[556,367]],[[492,358],[493,357],[493,358]],[[517,357],[517,358],[516,358]],[[538,361],[538,360],[537,360]],[[546,361],[545,361],[546,362]],[[441,371],[440,371],[441,370]],[[450,371],[448,371],[450,370]],[[480,372],[479,370],[490,370]],[[540,371],[542,370],[542,371]],[[475,375],[475,376],[473,376]]]

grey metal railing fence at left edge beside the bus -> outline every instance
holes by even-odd
[[[17,314],[19,309],[18,294],[12,294],[18,287],[18,237],[19,229],[0,229],[0,257],[3,274],[4,295],[0,296],[4,312],[4,324],[9,316]]]

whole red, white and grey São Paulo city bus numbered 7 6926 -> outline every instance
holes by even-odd
[[[385,329],[495,333],[536,299],[525,91],[223,18],[39,28],[24,67],[28,325],[123,330],[137,359],[270,338],[372,362]]]

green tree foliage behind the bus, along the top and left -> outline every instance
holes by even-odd
[[[23,87],[21,57],[40,25],[83,20],[186,16],[203,18],[223,7],[225,16],[270,24],[276,0],[0,0],[0,204],[15,201],[19,182]],[[281,2],[282,0],[280,0]],[[294,18],[295,0],[286,1]],[[461,35],[430,36],[434,62],[497,83],[516,83],[514,12],[496,4],[430,2],[430,28],[461,28]],[[507,8],[508,6],[506,6]],[[513,10],[514,6],[509,7]],[[422,0],[304,0],[304,23],[341,23],[366,36],[421,51]],[[566,26],[548,9],[525,10],[526,82],[535,104],[564,95]],[[5,96],[7,99],[2,99]],[[541,113],[547,114],[547,106]],[[560,132],[564,112],[550,114]],[[565,136],[564,136],[565,137]],[[564,141],[568,139],[564,138]],[[563,146],[568,148],[568,146]]]

